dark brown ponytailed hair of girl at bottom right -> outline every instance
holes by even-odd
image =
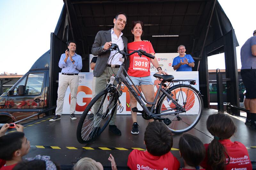
[[[211,165],[212,169],[225,169],[226,155],[228,157],[228,163],[230,158],[219,140],[231,138],[236,132],[236,126],[228,115],[217,113],[208,117],[206,127],[212,136],[214,136],[214,139],[208,146],[207,163]]]

